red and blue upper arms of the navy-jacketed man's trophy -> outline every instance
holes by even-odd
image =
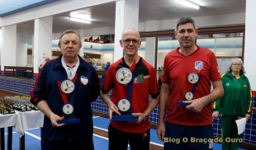
[[[75,76],[72,79],[73,84],[74,84],[74,88],[73,88],[73,92],[70,94],[70,102],[68,101],[68,95],[60,90],[61,82],[58,81],[59,93],[62,97],[62,100],[63,100],[64,104],[70,103],[71,105],[73,105],[73,99],[74,99],[75,91],[76,91],[76,88],[77,88],[77,82],[76,82],[77,78],[78,78],[78,75],[77,75],[77,73],[75,73]]]

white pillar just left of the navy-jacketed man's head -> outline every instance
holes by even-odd
[[[40,64],[45,64],[44,54],[51,59],[52,53],[52,24],[53,16],[35,20],[35,31],[33,41],[33,67],[34,76],[39,72]],[[34,77],[35,79],[36,77]]]

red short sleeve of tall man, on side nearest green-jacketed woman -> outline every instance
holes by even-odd
[[[211,82],[216,82],[221,80],[217,59],[215,54],[212,52],[211,52],[211,68],[210,69],[211,69],[210,70]]]

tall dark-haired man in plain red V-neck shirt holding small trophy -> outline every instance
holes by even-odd
[[[211,102],[223,96],[224,91],[215,54],[196,45],[197,33],[192,18],[180,18],[174,31],[180,47],[164,59],[157,129],[164,149],[213,148]],[[185,96],[186,92],[192,97]],[[182,101],[187,106],[179,105]]]

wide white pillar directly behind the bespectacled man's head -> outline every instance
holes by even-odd
[[[139,0],[116,1],[114,62],[123,57],[121,33],[127,28],[139,28]]]

